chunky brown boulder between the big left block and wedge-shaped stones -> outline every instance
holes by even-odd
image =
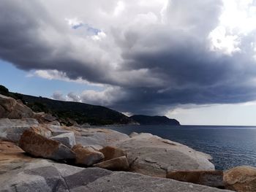
[[[92,166],[104,160],[103,153],[94,150],[92,147],[75,145],[72,150],[75,152],[75,163],[79,165]]]

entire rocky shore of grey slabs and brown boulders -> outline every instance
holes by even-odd
[[[256,191],[256,169],[152,134],[61,126],[0,95],[0,191]]]

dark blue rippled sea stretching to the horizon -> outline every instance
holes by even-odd
[[[249,126],[114,126],[124,134],[151,133],[208,153],[216,169],[256,166],[256,127]]]

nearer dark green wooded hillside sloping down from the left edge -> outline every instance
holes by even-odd
[[[71,101],[56,101],[53,99],[28,96],[20,93],[11,93],[7,88],[0,85],[0,93],[20,99],[34,112],[47,112],[64,124],[76,121],[78,124],[89,123],[90,125],[111,125],[135,123],[134,120],[123,115],[121,112],[110,110],[107,107],[84,104]]]

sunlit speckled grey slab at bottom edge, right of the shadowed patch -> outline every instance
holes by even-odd
[[[113,172],[104,177],[99,177],[86,186],[72,188],[72,192],[99,192],[99,191],[123,191],[123,192],[221,192],[217,188],[210,188],[203,185],[181,183],[176,180],[148,177],[142,174],[129,172]]]

